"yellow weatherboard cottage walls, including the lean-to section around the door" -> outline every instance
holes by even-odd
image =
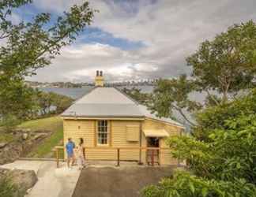
[[[141,147],[147,146],[145,135],[142,132],[143,129],[164,128],[170,136],[179,135],[182,131],[182,128],[164,123],[163,121],[155,121],[151,119],[146,119],[145,121],[109,120],[108,144],[100,145],[97,144],[96,127],[96,120],[64,119],[64,144],[67,143],[68,138],[72,138],[77,145],[79,143],[79,139],[83,138],[85,141],[85,147],[92,148],[85,150],[86,159],[115,160],[117,158],[117,151],[111,148],[120,147],[121,160],[138,161],[140,151],[138,149],[129,148],[140,147],[140,138],[137,138],[137,136],[141,136]],[[124,147],[128,149],[122,149]],[[160,147],[168,147],[165,143],[165,139],[160,139]],[[146,151],[141,151],[141,162],[146,163]],[[162,150],[160,151],[160,164],[177,164],[177,160],[171,158],[170,150]]]

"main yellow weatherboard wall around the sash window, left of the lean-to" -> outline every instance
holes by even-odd
[[[127,140],[127,127],[130,132],[139,132],[141,121],[117,121],[109,120],[109,141],[107,145],[97,144],[96,134],[96,120],[72,120],[64,119],[64,143],[66,144],[69,138],[78,144],[79,139],[83,138],[85,147],[95,147],[95,149],[88,148],[85,150],[87,159],[96,160],[115,160],[117,158],[117,151],[111,147],[127,147],[127,150],[120,150],[121,160],[139,160],[139,151],[136,149],[129,149],[130,147],[140,147],[139,139],[135,141]],[[136,135],[135,135],[136,136]]]

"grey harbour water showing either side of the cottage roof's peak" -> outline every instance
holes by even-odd
[[[79,99],[88,91],[92,90],[92,86],[85,86],[81,88],[59,88],[59,87],[41,87],[40,90],[47,91],[47,92],[55,92],[59,95],[66,95],[70,96],[72,99]],[[122,89],[123,87],[119,87],[119,89]],[[126,88],[132,88],[132,87],[126,87]],[[152,92],[153,87],[152,86],[137,86],[138,89],[141,89],[142,92],[150,93]]]

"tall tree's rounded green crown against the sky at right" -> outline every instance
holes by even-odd
[[[216,91],[220,102],[254,87],[256,71],[256,24],[235,24],[227,32],[216,35],[213,41],[201,43],[198,51],[186,59],[192,66],[192,77],[199,91],[212,97]],[[216,105],[220,102],[212,97]]]

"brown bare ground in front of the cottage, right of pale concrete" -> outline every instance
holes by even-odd
[[[81,172],[73,197],[137,197],[146,185],[171,172],[171,167],[88,167]]]

